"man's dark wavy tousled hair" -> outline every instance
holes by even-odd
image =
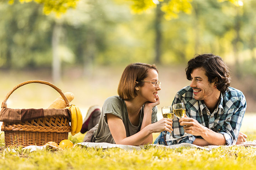
[[[192,80],[191,73],[196,68],[203,68],[210,83],[214,83],[217,89],[224,93],[230,85],[229,68],[221,57],[213,54],[197,54],[196,57],[188,61],[186,76],[188,80]],[[215,80],[217,78],[217,81]]]

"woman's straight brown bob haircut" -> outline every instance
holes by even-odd
[[[158,72],[155,64],[133,63],[129,64],[123,71],[119,81],[117,93],[123,100],[130,100],[137,96],[135,87],[143,86],[144,80],[148,77],[148,70],[155,69]]]

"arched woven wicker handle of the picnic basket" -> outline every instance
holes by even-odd
[[[58,88],[56,87],[55,85],[53,85],[52,83],[49,83],[47,81],[42,81],[42,80],[29,80],[29,81],[24,81],[23,83],[20,83],[18,84],[17,86],[15,86],[5,97],[4,101],[2,102],[2,106],[1,108],[7,108],[7,99],[10,97],[10,95],[16,90],[18,89],[19,87],[23,86],[23,85],[26,85],[26,84],[30,84],[30,83],[41,83],[41,84],[46,84],[48,86],[51,86],[53,87],[53,89],[55,89],[56,91],[59,92],[60,96],[62,96],[63,100],[65,101],[66,105],[65,107],[69,107],[69,101],[68,99],[66,98],[66,96],[63,94],[63,92]]]

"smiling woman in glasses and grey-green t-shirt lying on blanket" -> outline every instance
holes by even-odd
[[[171,119],[157,121],[158,91],[161,90],[156,66],[145,63],[129,64],[118,85],[118,95],[106,99],[100,120],[87,132],[84,142],[107,142],[121,145],[144,145],[153,142],[152,133],[172,130]],[[92,114],[88,112],[81,132],[85,132]],[[89,109],[90,110],[90,109]],[[96,119],[96,118],[95,118]],[[97,128],[97,130],[96,130]],[[90,132],[93,132],[90,133]]]

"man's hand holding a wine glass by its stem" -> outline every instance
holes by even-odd
[[[185,115],[184,118],[181,118],[179,122],[181,126],[185,125],[184,129],[188,134],[192,134],[194,136],[202,136],[202,131],[208,129],[198,123],[196,119],[188,118],[187,115]]]

